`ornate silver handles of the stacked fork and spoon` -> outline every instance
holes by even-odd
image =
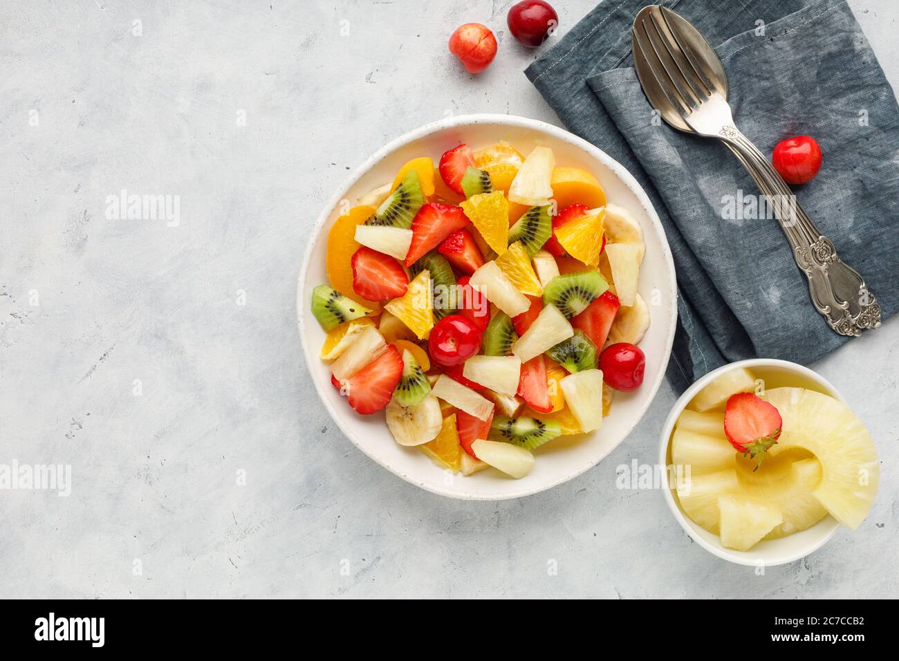
[[[808,217],[768,159],[733,125],[719,135],[770,198],[796,263],[806,273],[814,307],[832,329],[840,335],[861,335],[864,329],[880,326],[880,305],[864,279],[842,262],[832,241]]]

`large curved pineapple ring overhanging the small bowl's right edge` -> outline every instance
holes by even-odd
[[[802,388],[775,388],[764,398],[783,418],[778,452],[805,448],[821,462],[821,483],[813,495],[831,516],[852,529],[868,516],[880,464],[865,425],[833,397]]]

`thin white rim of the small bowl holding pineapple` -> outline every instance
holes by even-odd
[[[786,369],[788,371],[796,372],[797,374],[801,374],[807,377],[810,380],[813,380],[819,386],[821,386],[824,390],[827,391],[831,397],[835,397],[840,400],[843,404],[849,406],[846,400],[840,394],[840,391],[836,389],[836,387],[829,381],[823,378],[816,371],[810,370],[805,365],[800,365],[797,362],[789,362],[789,361],[781,361],[777,358],[750,358],[745,361],[737,361],[737,362],[729,362],[726,365],[722,365],[717,368],[717,370],[713,370],[708,372],[705,376],[700,377],[696,380],[690,388],[686,389],[681,397],[678,397],[678,400],[674,402],[674,406],[672,406],[671,412],[668,414],[668,417],[665,419],[665,424],[662,428],[662,437],[659,442],[659,465],[667,466],[668,465],[668,446],[671,444],[671,436],[672,431],[674,430],[674,424],[677,423],[678,417],[681,415],[681,412],[684,408],[690,404],[690,400],[696,396],[699,390],[708,386],[712,380],[715,380],[719,374],[723,374],[725,371],[735,370],[740,367],[745,367],[747,369],[752,369],[752,367],[780,367]],[[692,526],[694,525],[692,522],[687,520],[687,517],[681,512],[681,508],[678,507],[677,503],[674,502],[674,496],[672,495],[671,485],[668,483],[668,471],[663,470],[663,496],[665,498],[665,503],[668,504],[668,509],[671,510],[674,518],[678,523],[681,524],[681,528],[683,528],[684,532],[690,535],[690,539],[695,541],[699,546],[703,549],[706,549],[709,553],[718,558],[722,558],[727,560],[728,562],[733,562],[737,565],[746,565],[750,567],[754,567],[759,564],[759,562],[763,562],[765,567],[777,567],[778,565],[786,565],[790,562],[796,562],[799,559],[805,558],[808,555],[811,555],[817,549],[823,547],[828,541],[830,541],[833,535],[840,529],[840,522],[834,519],[830,514],[828,514],[825,519],[830,519],[832,522],[831,530],[824,534],[820,539],[814,540],[812,544],[806,549],[802,549],[801,551],[797,551],[788,556],[784,556],[783,558],[779,558],[776,561],[768,561],[762,558],[760,553],[752,553],[752,550],[748,551],[738,551],[734,549],[723,549],[718,548],[714,544],[710,544],[708,540],[700,537],[699,534],[696,534],[696,531],[693,530]],[[817,524],[815,524],[817,525]]]

